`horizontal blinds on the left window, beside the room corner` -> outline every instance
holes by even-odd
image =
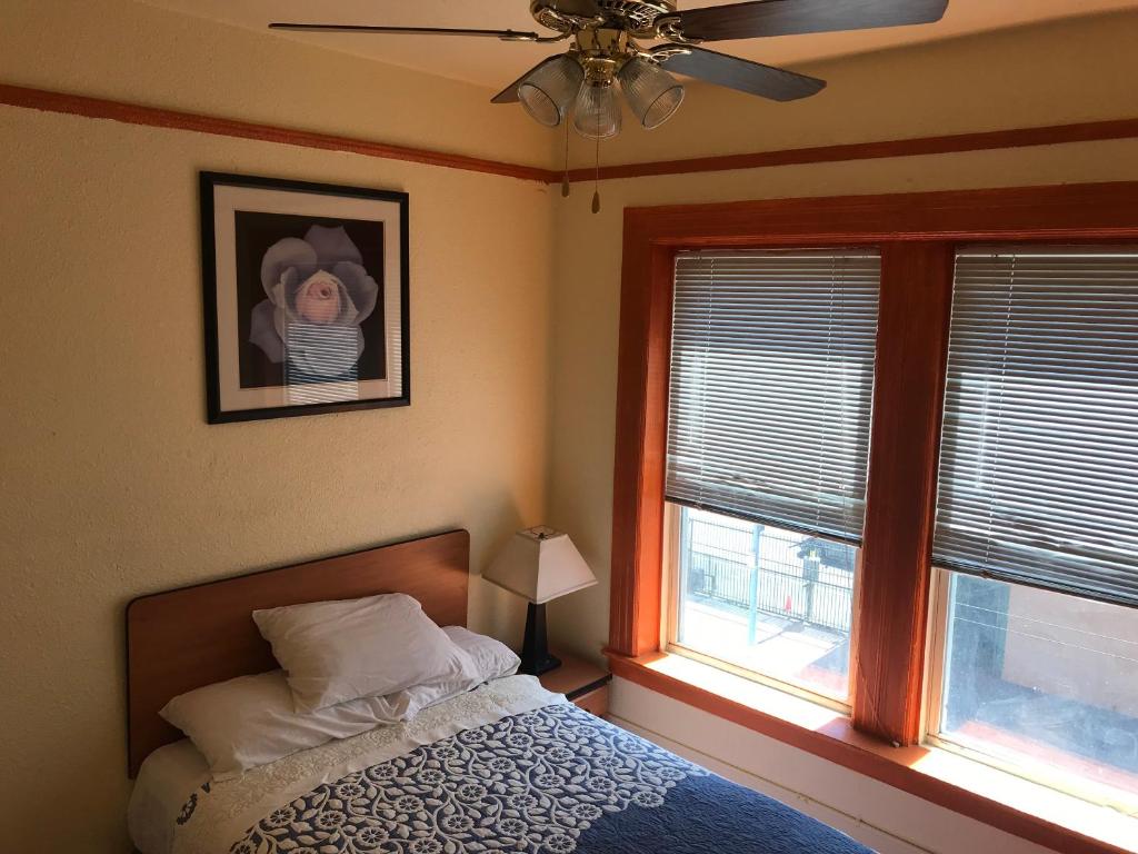
[[[879,254],[676,262],[667,498],[859,543]]]

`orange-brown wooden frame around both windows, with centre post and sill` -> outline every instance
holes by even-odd
[[[882,746],[921,749],[923,734],[955,247],[1138,239],[1138,182],[628,208],[624,229],[607,649],[617,674],[1042,845],[1120,851],[972,793],[935,786],[931,793],[927,781],[887,770],[881,755]],[[661,654],[665,619],[663,485],[676,254],[828,246],[875,246],[882,254],[860,616],[844,737],[793,732],[761,712],[726,708],[706,691],[668,683],[638,666]],[[847,744],[832,744],[835,738]]]

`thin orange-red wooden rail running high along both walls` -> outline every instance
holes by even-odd
[[[536,181],[538,183],[553,184],[560,183],[562,180],[560,171],[541,169],[539,166],[526,166],[504,161],[469,157],[467,155],[427,148],[388,145],[355,137],[316,133],[314,131],[244,122],[234,118],[220,118],[198,113],[148,107],[127,101],[71,95],[48,89],[13,85],[10,83],[0,83],[0,105],[85,116],[88,118],[109,118],[115,122],[149,128],[211,133],[218,137],[253,139],[262,142],[318,148],[329,151],[347,151],[363,155],[364,157],[422,163],[445,169],[516,178],[522,181]],[[770,166],[792,166],[811,163],[840,163],[890,157],[918,157],[933,154],[987,151],[1003,148],[1029,148],[1070,142],[1099,142],[1135,138],[1138,138],[1138,118],[1119,118],[1041,128],[956,133],[941,137],[916,137],[913,139],[882,140],[876,142],[787,148],[716,157],[626,163],[602,166],[599,174],[602,181],[611,181],[654,175],[683,175],[699,172],[726,172],[732,170],[766,169]],[[570,170],[569,180],[580,183],[592,181],[596,175],[597,172],[593,169],[576,169]]]

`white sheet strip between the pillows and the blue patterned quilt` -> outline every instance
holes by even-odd
[[[380,725],[348,739],[253,769],[236,780],[211,782],[205,758],[189,740],[155,750],[139,770],[127,810],[131,838],[141,854],[215,854],[229,851],[245,830],[275,806],[311,791],[321,782],[434,744],[462,730],[495,723],[553,703],[561,695],[534,676],[506,676],[423,709],[412,720]],[[195,820],[178,823],[187,802],[198,795]]]

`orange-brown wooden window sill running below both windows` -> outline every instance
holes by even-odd
[[[1038,815],[1021,812],[999,800],[918,771],[914,765],[930,753],[927,748],[893,747],[880,739],[863,734],[844,718],[835,720],[819,730],[799,726],[649,666],[660,658],[661,654],[630,658],[609,651],[608,656],[615,676],[777,739],[1021,839],[1063,854],[1132,854],[1124,848],[1054,824]]]

